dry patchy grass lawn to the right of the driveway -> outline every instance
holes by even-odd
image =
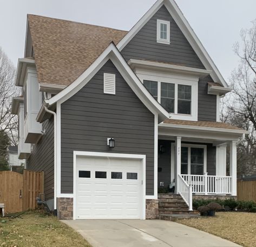
[[[215,217],[181,219],[177,222],[242,246],[256,246],[256,214],[254,213],[216,212]]]

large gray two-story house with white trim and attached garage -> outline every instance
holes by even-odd
[[[220,122],[231,88],[173,0],[129,32],[28,15],[16,85],[19,158],[44,170],[59,218],[156,217],[174,181],[190,208],[192,193],[237,195],[247,132]]]

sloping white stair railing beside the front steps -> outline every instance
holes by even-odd
[[[177,189],[178,189],[178,193],[181,195],[183,200],[187,203],[188,210],[193,211],[192,186],[189,186],[180,174],[178,175]]]

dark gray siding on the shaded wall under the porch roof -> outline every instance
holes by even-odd
[[[174,141],[159,140],[159,146],[165,147],[165,153],[158,153],[158,167],[162,168],[162,171],[158,172],[158,186],[160,182],[165,182],[165,187],[168,187],[170,183],[170,150]],[[207,145],[207,173],[208,175],[216,174],[216,147],[211,143],[198,143],[198,142],[182,142],[190,144]]]

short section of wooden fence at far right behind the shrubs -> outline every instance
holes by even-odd
[[[256,181],[238,181],[237,198],[239,201],[256,202]]]

